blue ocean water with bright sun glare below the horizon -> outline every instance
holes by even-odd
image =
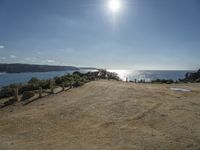
[[[79,70],[82,73],[95,70]],[[189,71],[136,71],[136,70],[114,70],[108,71],[115,72],[122,80],[126,78],[130,80],[145,80],[147,82],[155,79],[173,79],[178,80],[184,78],[185,74]],[[190,71],[191,72],[191,71]],[[36,72],[36,73],[0,73],[0,87],[13,83],[25,83],[32,77],[39,79],[51,79],[56,76],[71,74],[73,71],[56,71],[56,72]]]

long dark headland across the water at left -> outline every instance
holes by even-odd
[[[25,73],[25,72],[51,72],[51,71],[69,71],[79,70],[74,66],[50,66],[33,64],[0,64],[0,72],[5,73]]]

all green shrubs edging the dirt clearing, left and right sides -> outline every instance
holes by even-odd
[[[12,97],[14,96],[14,100],[19,100],[18,95],[22,95],[22,100],[29,99],[35,95],[35,93],[39,93],[39,98],[42,97],[43,92],[48,92],[53,94],[55,87],[61,87],[62,91],[68,88],[77,88],[79,86],[84,85],[87,82],[99,80],[99,79],[108,79],[108,80],[117,80],[120,78],[116,73],[107,72],[106,70],[98,70],[96,72],[88,72],[88,73],[80,73],[74,72],[73,74],[66,74],[61,77],[55,77],[53,79],[48,80],[40,80],[35,77],[31,78],[26,84],[10,84],[8,86],[4,86],[0,89],[0,98]],[[135,81],[130,81],[137,83]],[[179,79],[179,81],[166,80],[166,79],[156,79],[152,80],[151,83],[159,83],[159,84],[172,84],[179,82],[200,82],[200,70],[195,73],[187,73],[184,79]],[[140,80],[138,83],[145,83],[145,80]]]

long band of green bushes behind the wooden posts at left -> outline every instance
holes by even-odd
[[[43,89],[50,89],[53,93],[53,88],[56,86],[62,87],[79,87],[87,82],[97,79],[113,79],[119,80],[116,73],[107,72],[106,70],[99,70],[97,72],[88,72],[86,74],[80,72],[74,72],[73,74],[67,74],[61,77],[55,77],[49,80],[40,80],[35,77],[31,78],[26,84],[11,84],[9,86],[2,87],[0,90],[0,98],[14,96],[15,89],[18,89],[18,94],[23,94],[24,99],[29,96],[33,96],[31,91],[38,91],[41,97],[41,91]]]

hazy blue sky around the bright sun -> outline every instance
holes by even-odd
[[[199,0],[0,0],[0,63],[200,68]]]

